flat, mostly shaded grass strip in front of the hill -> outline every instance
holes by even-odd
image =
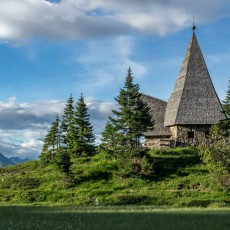
[[[230,209],[5,206],[0,208],[0,229],[228,230]]]

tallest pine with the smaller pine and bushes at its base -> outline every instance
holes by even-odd
[[[118,110],[112,110],[102,133],[101,148],[113,153],[118,159],[118,174],[121,176],[150,176],[153,173],[148,149],[141,144],[144,132],[152,130],[154,122],[150,108],[142,100],[139,85],[133,83],[131,69],[125,84],[115,98]]]

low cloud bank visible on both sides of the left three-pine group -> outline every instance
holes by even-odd
[[[114,108],[110,102],[85,98],[97,143],[108,116]],[[64,101],[18,103],[15,97],[0,101],[0,153],[5,156],[37,158],[43,140],[55,119],[62,115]]]

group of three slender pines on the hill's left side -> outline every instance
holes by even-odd
[[[71,157],[94,153],[93,127],[89,121],[87,106],[81,95],[74,108],[72,94],[67,100],[62,120],[56,116],[44,139],[40,159],[51,163],[60,171],[69,174]]]

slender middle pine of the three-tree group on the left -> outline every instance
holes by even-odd
[[[62,115],[62,122],[61,122],[61,143],[64,146],[68,145],[67,139],[68,139],[68,135],[70,135],[69,131],[72,125],[73,115],[74,115],[74,100],[73,100],[73,95],[70,94],[70,97],[67,100],[66,106],[64,108],[64,112]]]

